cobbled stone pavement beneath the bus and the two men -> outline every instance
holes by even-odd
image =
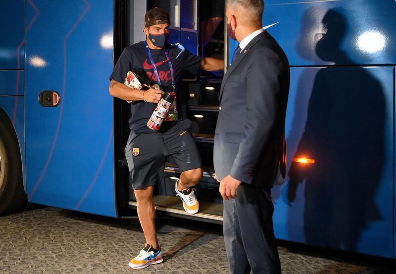
[[[0,273],[227,273],[220,226],[182,219],[157,226],[164,263],[133,271],[128,262],[144,243],[137,220],[51,207],[0,217]],[[279,247],[285,274],[396,273],[389,261],[293,250]]]

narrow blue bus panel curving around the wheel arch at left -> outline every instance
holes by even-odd
[[[1,74],[1,72],[0,72]],[[21,72],[23,79],[23,72]],[[23,83],[23,82],[22,82]],[[11,83],[15,88],[15,83]],[[23,84],[21,84],[23,87]],[[2,87],[0,87],[0,90]],[[24,118],[24,100],[23,96],[0,95],[0,109],[2,109],[14,125],[15,133],[19,142],[21,151],[23,182],[26,190],[26,172],[25,172],[25,118]]]

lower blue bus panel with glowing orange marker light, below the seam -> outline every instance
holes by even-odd
[[[278,238],[393,258],[394,67],[291,68]],[[294,158],[315,160],[313,164]]]

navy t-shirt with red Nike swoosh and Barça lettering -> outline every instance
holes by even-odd
[[[179,43],[165,45],[172,62],[173,75],[176,85],[176,97],[178,97],[180,80],[183,71],[196,74],[202,58],[192,54],[187,48]],[[172,77],[168,61],[163,49],[150,49],[153,61],[158,71],[158,76],[163,86],[172,84]],[[127,73],[136,69],[143,69],[149,79],[157,81],[146,49],[145,41],[125,47],[121,53],[117,64],[114,67],[110,79],[124,83]],[[148,119],[156,107],[156,103],[144,101],[133,101],[131,103],[132,117],[129,119],[129,127],[135,133],[154,133],[155,131],[147,127]],[[179,111],[180,116],[180,111]]]

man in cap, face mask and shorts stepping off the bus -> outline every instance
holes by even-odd
[[[223,60],[198,57],[179,43],[169,44],[169,15],[161,8],[150,9],[145,16],[146,41],[127,46],[110,76],[109,91],[114,97],[132,101],[129,120],[131,133],[125,148],[132,187],[137,199],[140,223],[146,244],[131,260],[133,269],[146,268],[162,262],[161,248],[155,231],[153,186],[161,181],[166,157],[177,163],[182,172],[175,191],[190,213],[198,212],[198,200],[193,186],[202,178],[202,163],[191,135],[191,121],[180,117],[175,103],[159,131],[147,126],[164,91],[132,89],[124,84],[128,72],[142,70],[149,80],[177,92],[184,71],[196,74],[199,68],[207,71],[223,69]]]

